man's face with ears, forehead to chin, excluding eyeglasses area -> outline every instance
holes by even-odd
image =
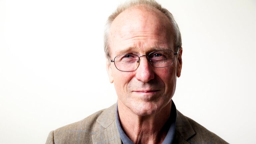
[[[171,22],[157,10],[133,8],[119,14],[110,28],[110,59],[121,54],[147,55],[156,48],[176,52]],[[110,82],[114,82],[118,105],[137,115],[159,112],[175,92],[176,77],[181,73],[181,53],[171,66],[154,68],[141,57],[135,71],[123,72],[114,63],[107,65]]]

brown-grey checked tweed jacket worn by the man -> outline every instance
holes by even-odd
[[[73,124],[51,131],[46,144],[122,144],[115,119],[116,104]],[[174,144],[228,144],[177,111]]]

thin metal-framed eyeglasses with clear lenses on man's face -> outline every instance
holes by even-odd
[[[159,50],[151,52],[148,55],[137,56],[135,54],[123,54],[116,56],[114,62],[116,68],[120,71],[130,72],[135,71],[140,65],[140,58],[145,56],[149,64],[155,68],[163,68],[173,64],[174,55],[177,55],[179,52],[174,53],[171,50]]]

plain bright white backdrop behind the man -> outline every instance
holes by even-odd
[[[158,0],[175,17],[177,109],[232,144],[255,143],[256,1]],[[111,106],[103,52],[120,0],[0,0],[0,143],[48,133]]]

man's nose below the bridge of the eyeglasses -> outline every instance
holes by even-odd
[[[149,64],[147,56],[146,57],[140,56],[139,67],[136,70],[136,78],[137,80],[140,80],[144,83],[155,78],[153,67]]]

